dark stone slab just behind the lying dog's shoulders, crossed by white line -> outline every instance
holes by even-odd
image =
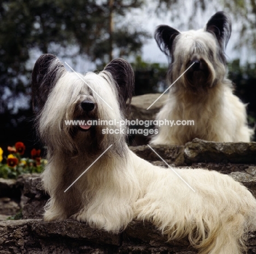
[[[167,146],[167,145],[150,145],[162,159],[168,160],[176,166],[184,165],[184,147],[183,146]],[[148,146],[129,147],[133,153],[147,161],[161,161],[152,149]]]

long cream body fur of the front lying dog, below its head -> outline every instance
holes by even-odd
[[[50,193],[61,171],[53,166],[43,176]],[[256,227],[256,202],[251,192],[215,171],[175,170],[195,192],[170,169],[153,166],[130,150],[124,160],[100,159],[75,185],[85,204],[74,217],[113,232],[133,219],[152,221],[169,240],[188,235],[200,253],[241,253],[243,234]],[[66,219],[54,198],[56,195],[44,219]]]

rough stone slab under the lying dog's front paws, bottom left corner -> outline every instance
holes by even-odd
[[[0,222],[0,253],[112,253],[120,234],[99,231],[73,220]],[[108,252],[104,252],[107,249]],[[98,251],[98,252],[97,252]]]

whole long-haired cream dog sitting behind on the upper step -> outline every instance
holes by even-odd
[[[193,138],[219,142],[249,142],[246,105],[233,94],[224,49],[231,34],[230,17],[218,12],[203,29],[179,32],[159,26],[155,40],[169,61],[171,85],[166,104],[156,119],[194,120],[194,125],[163,125],[153,144],[183,145]],[[185,123],[185,122],[184,122]]]

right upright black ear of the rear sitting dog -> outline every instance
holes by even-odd
[[[206,25],[206,31],[216,36],[222,50],[224,50],[228,44],[231,30],[230,16],[224,13],[224,11],[218,11],[218,13],[214,14]]]

